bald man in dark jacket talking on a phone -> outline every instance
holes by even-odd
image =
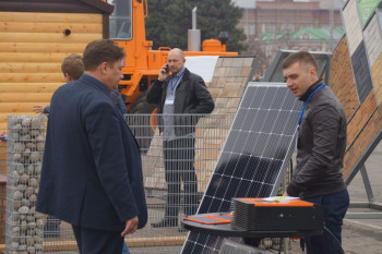
[[[214,100],[201,76],[184,68],[182,50],[168,52],[158,80],[150,87],[147,102],[158,105],[159,131],[163,133],[165,178],[168,196],[165,217],[154,228],[177,227],[180,207],[180,184],[184,190],[184,215],[198,208],[198,181],[194,162],[195,124],[201,116],[214,110]],[[171,74],[169,74],[171,73]]]

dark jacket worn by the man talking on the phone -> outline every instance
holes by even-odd
[[[147,102],[157,104],[159,114],[163,113],[169,81],[170,76],[168,76],[164,82],[156,80],[147,93]],[[191,73],[187,69],[175,93],[175,114],[207,114],[215,108],[214,100],[205,86],[203,78],[194,73]],[[175,116],[175,134],[177,136],[182,136],[194,132],[194,126],[200,117]],[[162,132],[162,117],[158,118],[158,122],[159,130]]]

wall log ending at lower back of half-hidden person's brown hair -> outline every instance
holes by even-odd
[[[61,72],[57,73],[2,73],[0,75],[0,83],[22,83],[22,82],[41,82],[41,83],[52,83],[62,82],[65,80]]]

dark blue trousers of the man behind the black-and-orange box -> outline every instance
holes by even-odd
[[[341,252],[342,226],[346,210],[349,207],[349,194],[347,190],[305,198],[305,201],[320,204],[325,210],[325,227],[333,233],[324,230],[323,234],[306,238],[307,254],[336,254]]]

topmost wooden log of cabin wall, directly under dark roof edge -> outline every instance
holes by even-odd
[[[46,22],[46,23],[102,23],[102,14],[93,13],[43,13],[1,12],[0,22]]]

